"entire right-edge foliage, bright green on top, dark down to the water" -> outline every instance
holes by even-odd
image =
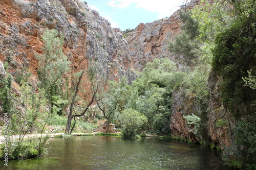
[[[228,111],[237,118],[232,131],[235,141],[224,150],[224,160],[229,166],[253,169],[255,155],[255,123],[247,115],[255,114],[255,1],[201,1],[204,5],[193,9],[193,18],[199,22],[199,39],[208,43],[213,55],[212,69],[223,79],[220,83],[221,100]],[[202,48],[201,48],[202,49]],[[196,90],[197,91],[197,90]],[[243,119],[242,117],[247,117]],[[242,118],[242,120],[241,120]],[[227,126],[219,119],[216,127]],[[247,142],[248,141],[248,142]],[[253,158],[253,159],[252,159]]]

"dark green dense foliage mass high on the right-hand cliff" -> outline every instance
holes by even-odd
[[[222,101],[236,118],[255,112],[251,107],[256,100],[255,90],[245,87],[243,81],[247,70],[256,69],[256,41],[255,37],[253,38],[255,34],[256,27],[248,20],[235,22],[217,35],[216,46],[212,50],[212,67],[223,76],[220,88]]]

